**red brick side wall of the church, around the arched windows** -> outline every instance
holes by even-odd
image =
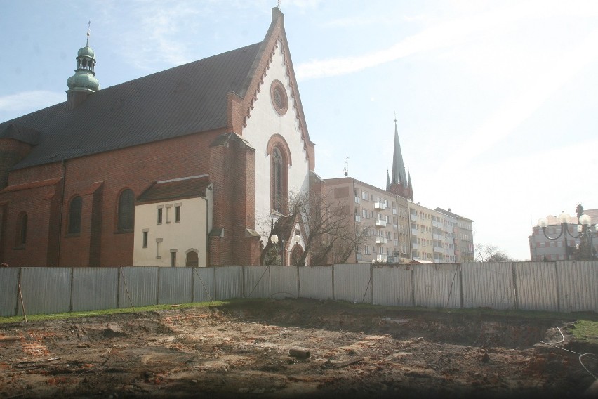
[[[0,194],[0,202],[8,202],[6,234],[1,240],[2,261],[11,266],[132,265],[133,233],[119,233],[116,228],[119,193],[131,188],[136,197],[154,181],[207,174],[209,145],[220,133],[194,134],[69,159],[65,162],[62,207],[60,185]],[[56,162],[13,171],[9,181],[15,185],[61,177],[62,173],[61,163]],[[104,184],[98,193],[94,183],[101,181]],[[53,199],[48,199],[49,195],[54,195]],[[81,233],[77,237],[66,237],[69,201],[75,195],[83,198]],[[52,204],[55,207],[53,212]],[[20,211],[27,211],[29,215],[25,250],[14,249],[16,218]],[[58,256],[60,262],[55,261]]]

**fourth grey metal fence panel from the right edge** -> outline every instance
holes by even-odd
[[[459,264],[414,265],[415,306],[460,308]]]

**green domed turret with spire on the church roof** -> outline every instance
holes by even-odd
[[[77,52],[77,69],[72,77],[67,79],[67,107],[72,110],[79,106],[94,91],[100,90],[100,83],[95,79],[95,53],[89,47],[89,30],[84,48]]]

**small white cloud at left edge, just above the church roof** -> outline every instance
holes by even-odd
[[[0,114],[13,115],[18,117],[28,112],[34,112],[41,108],[49,107],[66,101],[64,92],[55,91],[22,91],[20,93],[10,94],[0,97]],[[2,119],[7,120],[7,119]]]

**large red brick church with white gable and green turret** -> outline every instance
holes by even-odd
[[[89,41],[76,60],[64,103],[0,123],[0,261],[259,264],[256,223],[315,167],[281,11],[263,41],[107,89]]]

